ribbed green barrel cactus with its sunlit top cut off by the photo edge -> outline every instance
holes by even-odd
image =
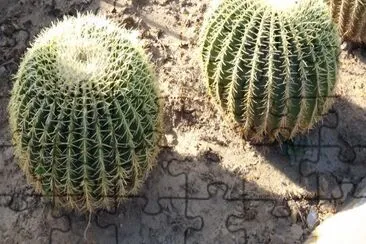
[[[206,16],[201,64],[246,139],[285,140],[329,108],[339,45],[322,0],[223,0]]]

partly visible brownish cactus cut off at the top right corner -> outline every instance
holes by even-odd
[[[366,43],[366,1],[327,0],[342,40]]]

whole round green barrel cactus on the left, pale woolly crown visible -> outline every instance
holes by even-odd
[[[23,58],[9,104],[15,154],[58,206],[109,208],[154,163],[161,105],[137,38],[101,16],[45,29]]]

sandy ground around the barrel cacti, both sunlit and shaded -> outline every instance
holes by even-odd
[[[337,99],[308,135],[251,145],[206,94],[197,37],[208,0],[0,0],[0,238],[4,243],[302,243],[366,186],[366,55],[341,55]],[[52,209],[13,158],[12,75],[42,27],[93,11],[136,29],[165,101],[165,140],[143,189],[112,212]],[[86,229],[90,221],[89,228]],[[0,242],[2,242],[0,241]]]

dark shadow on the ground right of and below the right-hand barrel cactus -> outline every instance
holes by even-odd
[[[366,111],[337,98],[308,134],[283,144],[253,146],[266,163],[306,189],[309,197],[344,201],[366,177]]]

